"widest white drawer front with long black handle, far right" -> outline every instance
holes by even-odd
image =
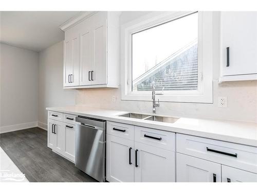
[[[257,148],[177,134],[177,152],[257,173]]]

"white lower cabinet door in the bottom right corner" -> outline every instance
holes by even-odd
[[[222,165],[222,182],[257,182],[257,174]]]

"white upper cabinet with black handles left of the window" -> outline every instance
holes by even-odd
[[[119,13],[91,13],[60,28],[65,31],[64,87],[118,87]]]

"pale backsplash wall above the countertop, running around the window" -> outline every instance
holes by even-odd
[[[146,12],[148,13],[148,12]],[[135,13],[142,16],[142,13]],[[121,24],[136,18],[135,14],[123,12]],[[257,122],[257,81],[237,81],[218,84],[219,76],[219,14],[213,14],[213,104],[160,102],[156,108],[158,114],[177,115],[185,117],[207,117]],[[121,79],[122,77],[120,77]],[[112,96],[116,102],[112,102]],[[103,97],[104,96],[104,97]],[[219,108],[217,96],[227,96],[228,107]],[[121,100],[120,89],[80,89],[76,99],[77,104],[109,109],[152,112],[152,102]]]

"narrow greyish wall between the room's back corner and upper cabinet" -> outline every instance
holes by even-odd
[[[46,107],[74,105],[76,90],[63,89],[63,41],[39,53],[39,126],[46,128]]]

